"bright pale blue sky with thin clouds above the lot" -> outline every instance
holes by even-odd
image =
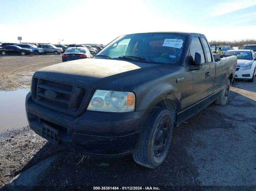
[[[129,33],[184,31],[256,39],[256,0],[0,0],[0,41],[107,44]],[[63,40],[63,41],[62,41]]]

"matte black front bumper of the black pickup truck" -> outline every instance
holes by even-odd
[[[44,124],[58,132],[57,145],[90,156],[120,157],[131,153],[141,128],[147,119],[146,111],[108,113],[85,111],[71,116],[41,106],[26,97],[29,126],[40,136]]]

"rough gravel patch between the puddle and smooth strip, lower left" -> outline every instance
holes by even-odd
[[[0,188],[19,173],[61,150],[28,126],[0,133]]]

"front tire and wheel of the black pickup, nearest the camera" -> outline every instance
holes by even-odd
[[[165,160],[173,129],[171,121],[168,110],[162,107],[155,107],[152,110],[132,152],[136,163],[156,168]]]

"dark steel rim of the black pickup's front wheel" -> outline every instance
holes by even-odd
[[[162,156],[169,142],[169,129],[170,126],[166,120],[159,123],[157,134],[154,140],[154,155],[156,158]]]

